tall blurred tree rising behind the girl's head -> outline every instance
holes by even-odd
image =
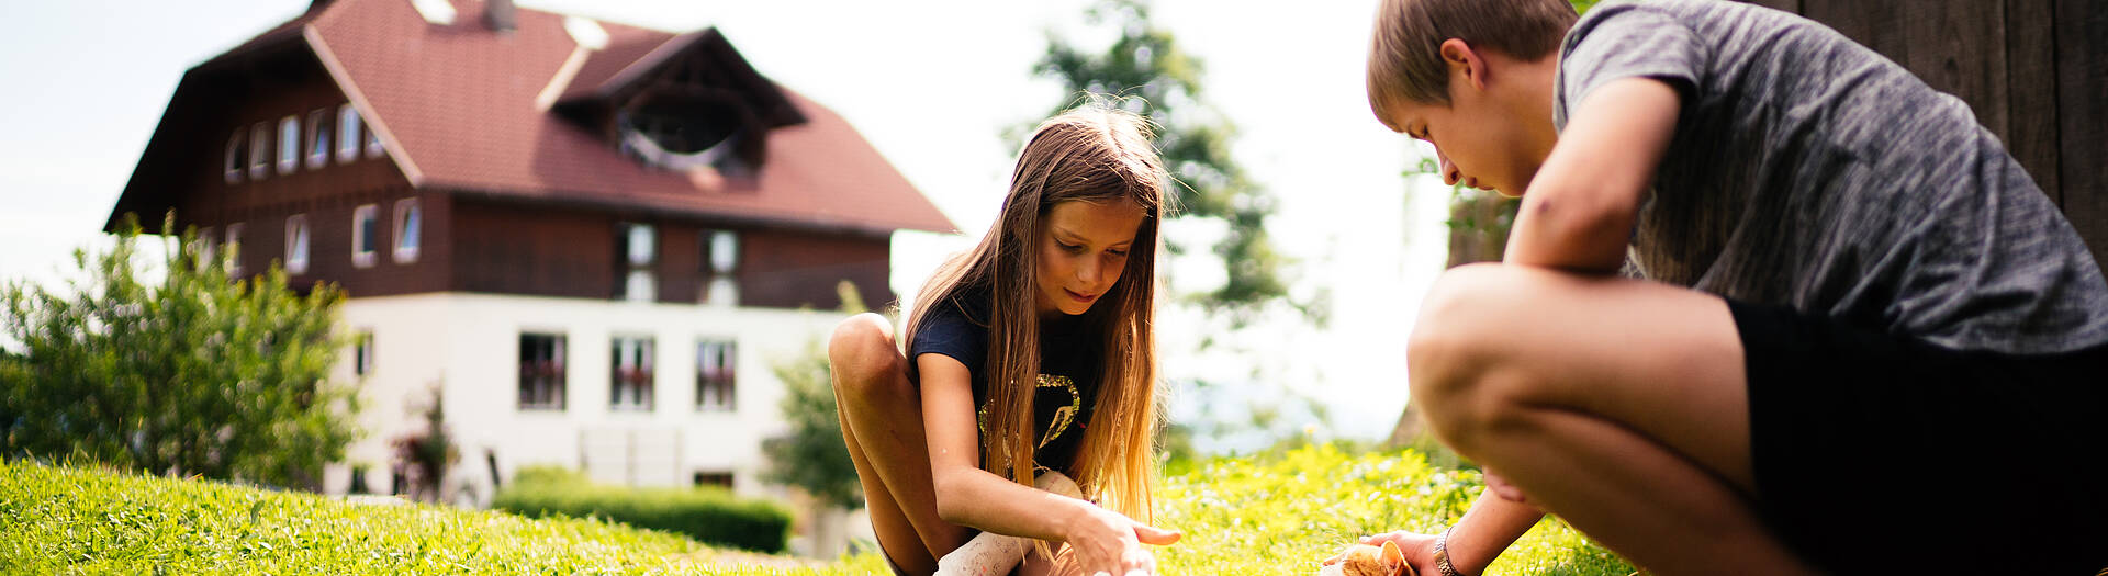
[[[1229,156],[1235,127],[1199,99],[1202,63],[1180,51],[1168,30],[1149,21],[1145,0],[1100,0],[1086,21],[1113,27],[1113,44],[1094,53],[1050,34],[1048,53],[1033,72],[1062,82],[1069,93],[1065,105],[1079,93],[1113,95],[1115,105],[1157,124],[1164,167],[1183,184],[1180,217],[1221,219],[1227,228],[1210,247],[1223,260],[1227,281],[1191,300],[1210,314],[1227,316],[1233,327],[1244,327],[1271,302],[1286,302],[1282,266],[1288,260],[1273,251],[1265,230],[1273,196]],[[1166,247],[1172,255],[1191,249],[1170,236]],[[1324,319],[1322,304],[1290,306]]]

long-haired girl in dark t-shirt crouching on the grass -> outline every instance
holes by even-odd
[[[1081,574],[1153,572],[1162,160],[1147,124],[1086,105],[1033,131],[995,228],[921,289],[902,357],[883,316],[828,342],[841,435],[900,574],[974,530],[1058,542]],[[1084,498],[1033,489],[1073,477]],[[1054,568],[1046,546],[1024,574]]]

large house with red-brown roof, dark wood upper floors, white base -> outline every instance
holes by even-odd
[[[169,209],[236,274],[350,293],[367,435],[327,492],[398,485],[390,439],[436,388],[476,500],[527,464],[761,492],[769,365],[839,283],[894,300],[894,230],[953,230],[717,30],[510,0],[316,0],[192,68],[110,226]]]

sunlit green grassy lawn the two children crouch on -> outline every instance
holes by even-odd
[[[1164,574],[1311,574],[1353,536],[1433,532],[1478,496],[1478,475],[1412,452],[1303,447],[1214,460],[1166,479]],[[0,574],[887,574],[719,551],[597,519],[521,519],[438,506],[348,504],[312,494],[91,468],[0,464]],[[1488,574],[1634,570],[1558,521]]]

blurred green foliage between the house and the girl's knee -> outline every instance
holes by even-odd
[[[837,285],[843,314],[864,312],[856,285]],[[769,456],[765,481],[795,485],[820,502],[843,508],[864,504],[856,460],[841,437],[841,416],[835,407],[835,380],[826,350],[814,340],[805,352],[776,363],[776,380],[784,382],[782,416],[790,433],[761,443]]]

